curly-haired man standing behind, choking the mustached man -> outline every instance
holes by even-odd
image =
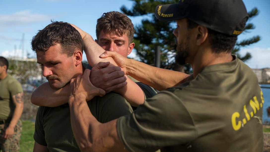
[[[134,37],[134,26],[130,18],[117,11],[104,13],[97,19],[96,37],[97,39],[95,41],[103,49],[107,51],[116,51],[123,57],[127,57],[135,45],[132,42]],[[95,58],[99,58],[100,54],[95,55],[95,52],[85,52],[90,65],[94,66],[98,63],[94,61]],[[92,69],[92,74],[90,76],[93,85],[102,88],[106,92],[112,91],[114,85],[118,85],[117,78],[119,77],[118,75],[114,76],[113,67],[107,67],[108,65],[109,64],[104,64],[100,69]],[[123,97],[133,105],[133,109],[136,109],[139,104],[143,104],[146,98],[156,94],[156,91],[152,87],[135,80],[129,75],[127,79],[127,90],[121,88],[113,91],[123,95]],[[63,91],[63,89],[65,89],[65,91]],[[35,105],[48,107],[56,107],[65,104],[68,102],[70,94],[69,86],[65,86],[61,90],[62,91],[53,90],[49,87],[49,83],[45,82],[34,91],[31,102]]]

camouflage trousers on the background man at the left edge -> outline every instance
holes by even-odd
[[[22,121],[19,120],[14,127],[14,134],[12,138],[5,139],[4,133],[8,124],[0,125],[0,151],[2,152],[19,152],[20,151],[20,139],[22,133]]]

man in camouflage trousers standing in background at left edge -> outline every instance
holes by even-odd
[[[0,57],[0,151],[20,150],[22,111],[22,85],[8,74],[8,60]]]

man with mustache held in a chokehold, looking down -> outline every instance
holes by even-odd
[[[72,25],[66,22],[52,21],[51,24],[39,30],[31,44],[33,51],[36,52],[43,76],[48,80],[52,90],[62,91],[72,78],[82,75],[85,69],[89,68],[89,65],[82,64],[84,46],[82,37]],[[121,68],[118,67],[116,72],[120,70]],[[121,73],[120,75],[124,76],[124,72]],[[133,111],[121,95],[114,92],[105,95],[105,91],[99,88],[96,91],[100,93],[100,96],[93,96],[86,106],[101,123]],[[45,97],[45,100],[53,99]],[[79,151],[70,124],[69,105],[40,106],[36,114],[33,137],[34,152]]]

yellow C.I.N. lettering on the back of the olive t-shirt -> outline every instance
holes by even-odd
[[[258,102],[257,97],[254,96],[251,100],[249,100],[249,106],[252,108],[253,111],[248,113],[247,106],[244,105],[243,111],[245,113],[245,118],[240,120],[240,113],[239,112],[234,112],[231,117],[232,121],[232,128],[237,131],[241,128],[242,125],[245,125],[253,116],[254,114],[257,113],[260,108],[262,108],[264,104],[264,96],[261,91],[261,103]]]

